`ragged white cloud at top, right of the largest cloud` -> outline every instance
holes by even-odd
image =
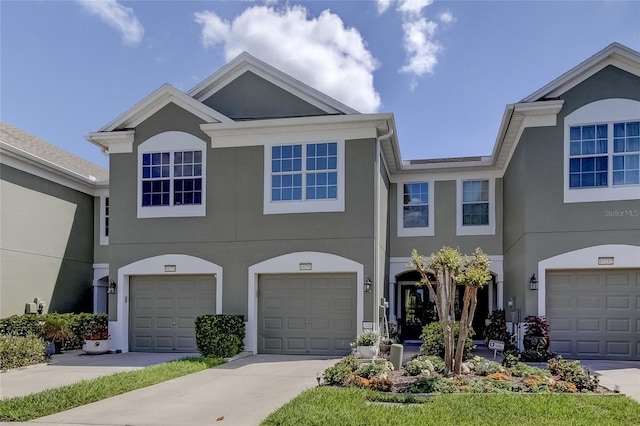
[[[386,11],[394,0],[378,0],[378,11]],[[438,55],[442,52],[442,45],[437,41],[438,23],[428,20],[423,10],[433,3],[433,0],[395,0],[396,11],[402,19],[404,31],[403,47],[406,52],[406,63],[400,68],[400,72],[414,77],[411,82],[412,89],[417,85],[417,77],[427,73],[433,73],[438,63]],[[381,7],[384,4],[384,7]],[[442,23],[451,23],[455,20],[449,11],[439,15]]]

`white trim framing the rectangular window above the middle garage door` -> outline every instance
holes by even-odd
[[[295,136],[298,136],[297,134]],[[263,177],[263,213],[317,213],[317,212],[343,212],[345,206],[345,141],[344,139],[308,139],[308,135],[299,135],[295,142],[265,143],[264,145],[264,177]],[[315,135],[314,135],[315,136]],[[287,138],[289,139],[289,138]],[[296,200],[296,201],[271,201],[271,148],[283,144],[301,144],[303,152],[308,143],[337,143],[337,175],[338,194],[335,199],[327,200]],[[303,160],[303,174],[307,174],[305,161]],[[304,182],[302,192],[305,192]],[[304,198],[304,197],[303,197]]]

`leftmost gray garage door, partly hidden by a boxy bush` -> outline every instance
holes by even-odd
[[[215,277],[136,276],[129,283],[129,350],[197,352],[195,319],[215,314]]]

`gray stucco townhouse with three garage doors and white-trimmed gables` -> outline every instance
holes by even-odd
[[[553,351],[640,360],[639,127],[640,54],[617,43],[507,105],[486,157],[402,160],[393,114],[246,53],[164,85],[88,135],[110,158],[93,276],[115,286],[112,346],[193,351],[193,318],[228,313],[247,350],[341,354],[385,302],[416,339],[409,255],[449,245],[492,261],[478,330],[545,315]]]

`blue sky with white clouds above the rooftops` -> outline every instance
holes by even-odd
[[[490,155],[516,103],[612,42],[638,1],[0,0],[0,119],[108,167],[85,136],[242,51],[363,113],[404,160]]]

